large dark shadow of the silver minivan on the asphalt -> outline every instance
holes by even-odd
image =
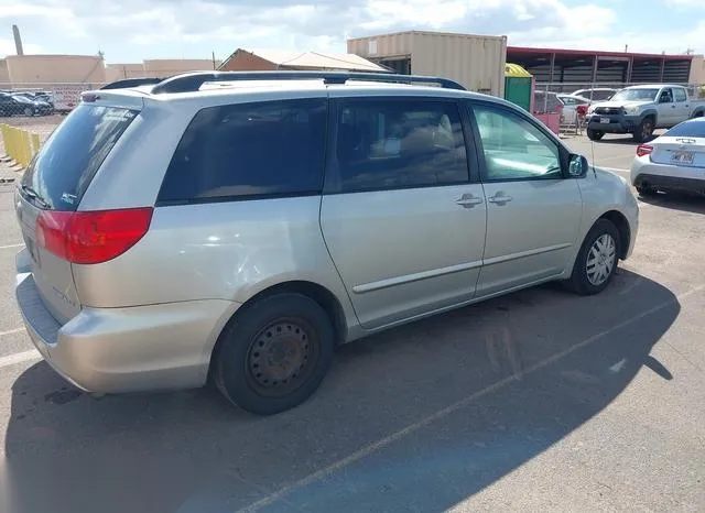
[[[597,296],[522,291],[344,346],[307,403],[267,418],[209,389],[95,400],[37,363],[12,388],[9,511],[444,511],[637,373],[665,384],[650,352],[679,313],[625,270]]]

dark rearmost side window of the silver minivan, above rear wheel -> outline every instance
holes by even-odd
[[[186,129],[159,201],[319,193],[326,99],[208,107]]]

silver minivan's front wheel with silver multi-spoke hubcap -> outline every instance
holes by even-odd
[[[620,243],[617,227],[607,219],[598,219],[575,259],[568,287],[581,295],[603,292],[617,271]]]

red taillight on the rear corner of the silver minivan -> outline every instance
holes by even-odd
[[[112,260],[132,248],[150,228],[152,208],[61,212],[44,210],[36,219],[36,242],[72,263]]]

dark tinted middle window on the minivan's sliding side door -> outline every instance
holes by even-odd
[[[456,103],[348,100],[338,113],[335,164],[326,188],[355,193],[468,181]]]

